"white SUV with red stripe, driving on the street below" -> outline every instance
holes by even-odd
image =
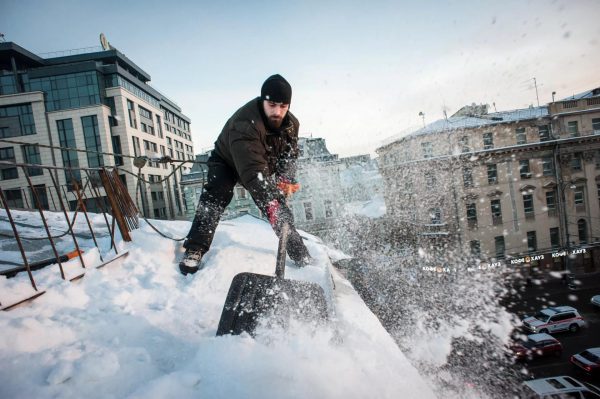
[[[523,327],[532,333],[551,334],[559,331],[576,332],[585,326],[583,317],[571,306],[542,309],[534,316],[523,319]]]

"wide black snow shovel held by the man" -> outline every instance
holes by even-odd
[[[289,225],[281,229],[275,276],[240,273],[233,278],[217,336],[238,335],[246,331],[254,336],[259,321],[286,326],[290,318],[301,321],[327,319],[323,288],[316,283],[285,280],[285,254]]]

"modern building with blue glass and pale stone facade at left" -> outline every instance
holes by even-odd
[[[132,159],[38,146],[86,149],[130,156],[170,156],[194,159],[190,119],[179,106],[149,85],[150,75],[115,48],[42,58],[15,43],[0,43],[0,160],[54,166],[118,166],[119,175],[135,199],[137,173]],[[185,205],[179,187],[184,166],[168,181],[174,169],[149,162],[141,170],[150,184],[143,184],[137,201],[148,217],[180,218]],[[47,200],[52,185],[47,171],[38,170],[31,179],[36,191],[46,197],[47,209],[57,205]],[[71,207],[76,203],[72,179],[78,172],[58,173]],[[11,206],[32,204],[21,170],[2,166],[2,189]],[[29,197],[29,198],[27,198]],[[93,203],[88,204],[90,207]]]

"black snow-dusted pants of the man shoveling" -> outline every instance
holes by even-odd
[[[200,251],[203,255],[208,252],[221,215],[231,202],[233,188],[238,181],[239,176],[235,170],[213,153],[208,159],[208,181],[204,185],[204,192],[200,196],[192,227],[183,244],[184,248]],[[263,215],[266,215],[266,204],[256,201],[255,198],[253,199]],[[300,262],[310,256],[308,249],[302,242],[302,237],[294,227],[292,212],[285,201],[280,203],[279,219],[287,221],[290,226],[286,248],[290,258],[295,262]],[[280,236],[280,227],[281,224],[273,227],[278,237]]]

